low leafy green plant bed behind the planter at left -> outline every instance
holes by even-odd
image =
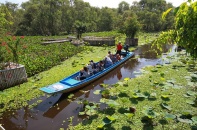
[[[43,37],[36,36],[6,36],[1,40],[3,42],[0,44],[2,52],[1,63],[14,61],[15,63],[23,64],[28,76],[32,76],[60,64],[86,48],[85,46],[76,47],[70,42],[44,46],[40,44],[42,39]]]

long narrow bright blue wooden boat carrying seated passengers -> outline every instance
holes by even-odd
[[[127,53],[124,52],[124,55],[125,56],[120,61],[112,64],[111,66],[105,68],[102,71],[97,72],[96,74],[87,77],[84,80],[76,80],[76,77],[79,75],[79,72],[76,72],[57,83],[40,88],[40,90],[48,94],[54,94],[54,93],[68,93],[83,88],[86,85],[90,84],[91,82],[95,81],[96,79],[100,78],[101,76],[105,75],[106,73],[110,72],[111,70],[115,69],[120,64],[127,61],[129,58],[131,58],[134,55],[134,52],[127,52]]]

